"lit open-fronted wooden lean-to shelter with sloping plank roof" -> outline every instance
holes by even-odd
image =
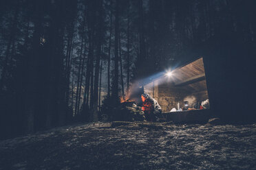
[[[170,121],[208,121],[209,108],[194,109],[197,102],[201,104],[209,99],[203,58],[179,66],[169,73],[162,73],[142,86],[145,93],[158,101]],[[184,111],[185,104],[189,110]]]

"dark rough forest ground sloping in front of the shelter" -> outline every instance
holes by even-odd
[[[58,127],[0,141],[0,169],[256,169],[256,124]]]

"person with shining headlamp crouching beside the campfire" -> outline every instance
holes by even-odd
[[[160,114],[162,113],[161,106],[156,99],[143,93],[141,95],[142,110],[145,112],[147,121],[159,121]]]

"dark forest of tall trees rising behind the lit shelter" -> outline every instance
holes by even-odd
[[[225,87],[215,106],[250,119],[255,12],[253,0],[1,1],[1,136],[101,121],[138,80],[195,56]]]

